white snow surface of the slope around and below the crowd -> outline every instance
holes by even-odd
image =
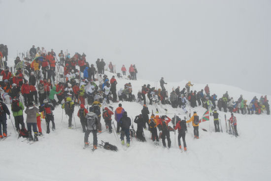
[[[112,74],[108,72],[106,74],[110,79]],[[125,83],[131,82],[135,97],[143,84],[150,83],[151,87],[155,84],[145,80],[116,79],[117,91]],[[169,83],[168,91],[170,92],[172,87],[183,88],[186,82]],[[218,97],[221,97],[225,91],[228,91],[235,100],[240,94],[243,94],[248,101],[251,101],[254,95],[258,98],[260,96],[257,93],[226,85],[208,85],[211,93],[216,93]],[[194,90],[200,91],[204,89],[204,86],[205,84],[195,84]],[[160,88],[159,82],[158,87]],[[268,97],[271,96],[268,95]],[[139,103],[121,103],[130,118],[135,119],[135,116],[141,113],[142,105]],[[10,105],[8,106],[10,108]],[[115,110],[118,103],[113,103],[112,106]],[[150,112],[155,111],[154,106],[148,107]],[[164,107],[169,110],[169,118],[172,118],[174,113],[184,114],[180,108],[173,109],[170,105],[164,105]],[[189,110],[189,108],[187,109]],[[78,109],[76,107],[74,111],[77,127],[81,126],[80,120],[76,116]],[[202,107],[195,109],[200,117],[205,111]],[[212,117],[210,131],[209,121],[200,124],[200,139],[198,140],[193,139],[193,128],[188,128],[186,152],[180,152],[177,148],[177,132],[176,144],[174,132],[170,132],[171,148],[164,149],[162,141],[158,147],[153,145],[150,140],[150,132],[146,130],[144,130],[144,134],[147,142],[138,142],[133,138],[130,148],[123,147],[113,133],[104,132],[98,135],[98,142],[101,143],[101,140],[109,142],[116,145],[119,151],[113,152],[98,148],[93,152],[91,149],[82,149],[84,133],[82,133],[81,127],[77,130],[68,129],[68,117],[65,113],[63,121],[61,121],[62,109],[60,106],[57,106],[53,112],[56,130],[46,134],[46,124],[43,120],[41,126],[44,136],[39,137],[39,142],[33,145],[21,142],[23,138],[18,140],[11,121],[7,120],[7,130],[11,136],[0,142],[1,181],[253,181],[268,180],[270,176],[270,115],[235,114],[240,135],[236,138],[225,132],[224,112],[218,111],[221,116],[223,133],[214,132]],[[192,109],[191,112],[193,113]],[[165,112],[162,111],[159,115],[165,115]],[[183,118],[184,115],[179,116]],[[230,118],[230,113],[226,113],[226,116]],[[24,119],[26,119],[26,115],[24,115]],[[13,116],[12,121],[14,121]],[[72,123],[74,124],[73,120]],[[101,119],[101,123],[104,130],[103,119]],[[172,123],[169,125],[173,127]],[[135,123],[134,126],[136,130]],[[204,132],[201,128],[208,131]],[[89,142],[93,142],[92,133],[89,136]],[[183,146],[182,141],[181,144]]]

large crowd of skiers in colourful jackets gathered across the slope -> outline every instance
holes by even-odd
[[[46,52],[42,47],[35,48],[34,45],[26,54],[21,54],[14,60],[14,66],[7,66],[7,48],[0,45],[0,59],[2,63],[0,75],[0,138],[7,137],[6,120],[7,115],[10,118],[10,112],[6,104],[11,104],[11,112],[14,117],[15,129],[19,136],[26,137],[30,141],[38,141],[38,136],[42,136],[41,119],[46,121],[46,133],[50,133],[50,127],[54,131],[56,129],[53,110],[56,106],[61,105],[63,112],[68,116],[68,128],[74,128],[72,119],[75,123],[74,107],[79,106],[77,117],[80,119],[82,131],[85,133],[84,143],[88,147],[89,134],[93,134],[93,149],[97,149],[97,135],[101,134],[102,123],[101,118],[105,122],[106,130],[114,133],[116,139],[120,134],[121,143],[124,145],[124,137],[126,144],[130,146],[130,136],[136,135],[136,139],[146,141],[143,129],[151,132],[152,141],[158,145],[162,139],[163,146],[166,147],[166,139],[168,147],[171,146],[170,131],[178,130],[178,145],[181,149],[180,138],[183,140],[184,150],[186,151],[185,132],[187,130],[186,123],[192,122],[194,127],[195,139],[199,139],[199,116],[195,111],[189,120],[180,119],[178,116],[169,118],[166,115],[155,115],[162,113],[160,108],[165,104],[171,104],[173,108],[180,107],[185,114],[188,115],[186,106],[190,104],[192,108],[203,106],[205,109],[213,113],[215,130],[219,132],[218,113],[216,109],[224,112],[231,112],[231,123],[236,129],[236,118],[233,113],[241,114],[270,114],[269,101],[267,96],[262,96],[259,100],[256,96],[250,103],[243,98],[242,95],[237,101],[226,92],[222,98],[217,98],[215,93],[210,94],[208,85],[201,91],[193,91],[193,84],[188,82],[185,88],[180,90],[177,87],[172,89],[168,96],[165,88],[167,83],[162,77],[160,80],[161,89],[151,87],[150,84],[143,85],[141,91],[137,92],[137,99],[133,92],[132,84],[129,82],[120,90],[116,89],[117,80],[113,75],[111,78],[104,74],[107,69],[103,59],[89,64],[86,55],[83,53],[75,53],[72,57],[67,52],[61,51],[58,55],[51,51]],[[59,59],[59,60],[58,60]],[[79,67],[79,69],[77,69]],[[109,62],[108,69],[112,73],[116,73],[115,66]],[[121,68],[123,76],[126,77],[125,65]],[[129,75],[127,79],[136,80],[137,69],[135,64],[129,67]],[[120,73],[116,74],[121,78]],[[28,79],[27,79],[28,77]],[[110,80],[109,80],[110,79]],[[146,99],[146,95],[148,100]],[[57,100],[55,99],[57,97]],[[143,105],[141,114],[131,120],[128,113],[119,103],[119,107],[113,110],[110,102],[119,101],[136,101]],[[147,105],[154,105],[156,112],[151,113]],[[37,107],[38,106],[38,107]],[[86,107],[87,106],[87,107]],[[26,107],[26,109],[25,109]],[[23,111],[27,115],[26,123],[24,123]],[[111,116],[114,115],[116,126]],[[62,113],[63,116],[63,113]],[[135,131],[133,121],[137,124]],[[169,126],[172,121],[173,128]],[[52,126],[50,126],[50,122]],[[113,127],[112,127],[113,124]],[[132,128],[131,128],[132,126]],[[76,128],[76,127],[75,127]],[[32,134],[34,132],[34,137]],[[159,131],[159,134],[158,134]]]

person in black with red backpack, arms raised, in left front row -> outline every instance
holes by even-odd
[[[43,104],[39,106],[39,112],[43,112],[43,115],[45,116],[47,134],[50,133],[50,121],[52,121],[52,130],[54,131],[56,129],[55,118],[52,112],[53,110],[55,110],[54,106],[52,104],[49,104],[49,101],[47,99],[44,99]]]

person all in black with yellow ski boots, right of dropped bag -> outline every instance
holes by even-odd
[[[127,112],[125,111],[120,119],[120,127],[121,127],[121,144],[124,145],[124,135],[126,136],[127,147],[130,147],[130,126],[131,119],[127,116]]]

